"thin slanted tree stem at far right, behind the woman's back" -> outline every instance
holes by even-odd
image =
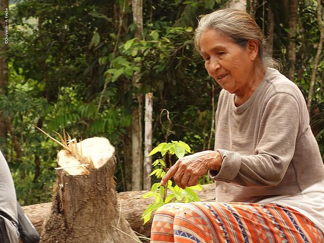
[[[317,23],[318,23],[318,29],[319,29],[320,35],[319,35],[319,42],[318,42],[317,52],[316,52],[316,56],[315,56],[315,60],[314,60],[314,67],[313,67],[313,71],[312,71],[311,81],[309,84],[309,91],[308,91],[308,98],[307,98],[307,110],[310,115],[311,115],[312,96],[313,96],[313,89],[314,89],[314,83],[315,83],[315,78],[316,78],[317,66],[318,66],[320,53],[322,52],[322,46],[323,46],[323,40],[324,40],[321,0],[317,0]]]

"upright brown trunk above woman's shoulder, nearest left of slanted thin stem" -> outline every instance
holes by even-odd
[[[298,1],[297,0],[286,0],[286,8],[288,10],[288,48],[287,48],[287,61],[288,71],[286,72],[287,77],[293,81],[295,77],[295,62],[296,62],[296,28],[297,28],[297,17],[298,17]]]

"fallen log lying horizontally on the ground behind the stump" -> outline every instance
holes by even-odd
[[[215,200],[215,186],[214,184],[203,185],[202,191],[197,191],[201,201],[211,202]],[[129,223],[132,230],[138,232],[146,237],[150,236],[150,229],[152,219],[145,225],[141,220],[141,215],[146,207],[153,202],[153,198],[143,198],[143,195],[148,191],[140,192],[123,192],[117,193],[118,205],[121,216],[124,217]],[[50,213],[52,203],[41,203],[29,206],[23,206],[22,209],[28,215],[36,230],[40,233],[43,226],[43,222],[47,215]],[[54,241],[55,242],[55,241]],[[89,241],[94,242],[94,241]],[[123,242],[123,241],[120,241]],[[128,242],[128,241],[125,241]],[[130,241],[129,241],[130,242]]]

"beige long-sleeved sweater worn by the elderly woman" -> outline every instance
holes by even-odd
[[[223,158],[216,181],[220,202],[258,202],[294,195],[324,179],[324,165],[298,87],[268,68],[248,101],[236,107],[222,90],[215,115],[215,150]]]

